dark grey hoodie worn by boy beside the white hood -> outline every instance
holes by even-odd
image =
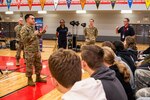
[[[128,100],[125,90],[113,70],[103,66],[91,77],[102,81],[107,100]]]

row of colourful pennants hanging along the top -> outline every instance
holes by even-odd
[[[27,0],[27,1],[28,1],[29,9],[31,10],[32,9],[33,0]],[[95,4],[96,4],[96,7],[98,9],[99,5],[101,4],[101,0],[94,0],[94,1],[95,1]],[[110,0],[112,9],[115,8],[116,1],[117,0]],[[0,4],[3,4],[3,2],[4,2],[4,0],[0,0]],[[22,0],[16,0],[18,9],[20,9],[21,2],[22,2]],[[86,2],[87,2],[86,0],[80,0],[80,4],[81,4],[81,8],[82,9],[84,9],[84,6],[86,5]],[[8,10],[10,9],[11,3],[12,3],[12,0],[6,0],[6,4],[7,4]],[[46,0],[40,0],[40,4],[41,4],[41,9],[42,10],[44,9],[45,3],[46,3]],[[59,3],[59,0],[53,0],[53,3],[54,3],[54,8],[56,10],[57,6],[58,6],[58,3]],[[66,0],[66,4],[68,6],[68,9],[70,8],[71,3],[72,3],[72,0]],[[132,8],[133,0],[128,0],[127,3],[129,5],[129,8]],[[149,7],[150,7],[150,0],[145,0],[145,5],[146,5],[146,8],[149,9]]]

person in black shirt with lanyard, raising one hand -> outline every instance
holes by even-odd
[[[126,38],[127,36],[132,36],[132,37],[135,38],[135,31],[134,31],[133,27],[131,27],[131,26],[129,25],[129,22],[130,22],[129,18],[125,18],[125,19],[124,19],[124,26],[122,26],[121,28],[119,28],[119,27],[117,26],[117,28],[116,28],[116,33],[117,33],[117,34],[118,34],[118,33],[121,34],[120,39],[121,39],[122,42],[124,42],[124,40],[125,40],[125,38]]]

